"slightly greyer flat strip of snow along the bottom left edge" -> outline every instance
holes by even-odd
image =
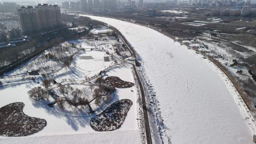
[[[71,135],[2,138],[1,144],[138,144],[139,131],[88,132]]]

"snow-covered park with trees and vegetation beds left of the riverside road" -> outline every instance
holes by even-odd
[[[108,33],[109,31],[111,30],[97,28],[92,30],[91,33]],[[119,58],[112,56],[112,53],[115,53],[113,45],[121,44],[122,42],[111,36],[103,36],[97,40],[93,38],[67,41],[58,48],[48,49],[15,70],[10,71],[6,74],[9,76],[1,77],[3,85],[0,86],[0,114],[8,117],[6,111],[10,113],[8,119],[13,122],[10,123],[12,128],[22,131],[21,127],[23,125],[23,128],[26,126],[33,129],[33,132],[26,131],[23,132],[24,134],[15,135],[13,131],[18,131],[8,129],[9,126],[4,125],[2,121],[0,125],[6,126],[7,129],[0,128],[0,144],[83,144],[85,141],[86,143],[140,144],[141,132],[138,124],[140,115],[137,113],[139,110],[137,104],[138,88],[135,84],[137,81],[134,79],[134,71],[131,64],[121,64]],[[72,58],[70,59],[70,57]],[[107,60],[105,57],[107,57]],[[70,64],[64,66],[65,61],[59,61],[61,58],[69,58]],[[27,71],[37,69],[39,74],[29,75],[27,73]],[[104,73],[100,74],[101,71],[104,71]],[[50,80],[54,79],[57,84],[49,83],[48,88],[45,86],[45,89],[48,89],[52,94],[48,95],[48,98],[41,99],[39,96],[35,96],[36,92],[35,94],[34,91],[30,91],[33,88],[38,88],[38,86],[44,89],[42,83],[45,77]],[[113,86],[115,91],[109,94],[110,97],[106,98],[106,100],[103,96],[105,100],[101,99],[97,104],[97,98],[94,99],[93,95],[96,93],[95,89],[99,85],[103,85],[95,82],[97,77],[102,77],[103,79],[118,77],[120,82],[132,85],[125,85],[123,86],[124,88]],[[111,80],[108,82],[111,83]],[[86,105],[83,105],[85,107],[81,105],[74,106],[71,103],[59,105],[63,99],[65,100],[64,93],[67,94],[68,99],[71,99],[68,101],[74,101],[75,104],[79,104],[77,99],[71,96],[73,92],[64,92],[65,89],[62,89],[63,94],[61,93],[60,88],[63,86],[68,89],[72,87],[73,92],[80,91],[81,98],[88,99],[86,102],[89,101],[92,112]],[[107,88],[112,88],[111,86],[111,84],[107,85]],[[97,115],[102,118],[102,114],[108,107],[122,99],[127,99],[125,101],[128,101],[129,105],[128,107],[125,104],[122,105],[123,108],[126,108],[124,113],[122,109],[114,113],[122,114],[122,117],[116,117],[118,125],[116,126],[113,123],[113,125],[109,126],[101,122],[102,127],[107,127],[108,132],[98,132],[97,129],[101,128],[97,127],[98,125],[95,126],[98,121],[96,120],[92,123],[90,120],[94,117],[97,119]],[[16,105],[16,107],[13,108],[13,105]],[[61,107],[63,106],[64,109],[62,110]],[[8,108],[9,110],[7,110]],[[116,106],[114,105],[111,110],[114,111],[115,108]],[[18,115],[22,117],[21,122],[15,122],[17,119],[15,117],[16,113],[12,110],[21,111]],[[108,112],[106,113],[107,118],[113,121],[111,111],[106,112]],[[37,122],[40,127],[35,128],[30,122]],[[37,126],[37,124],[35,125]]]

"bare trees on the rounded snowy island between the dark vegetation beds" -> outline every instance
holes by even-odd
[[[58,92],[61,95],[57,95],[48,91],[48,86],[50,84],[49,80],[43,81],[44,88],[35,87],[28,91],[30,98],[36,101],[48,101],[48,106],[53,107],[55,104],[61,109],[65,110],[66,106],[74,107],[79,111],[85,110],[86,107],[89,108],[90,112],[94,111],[91,108],[91,102],[95,102],[99,106],[102,102],[109,101],[111,99],[111,94],[115,91],[113,86],[105,85],[104,79],[99,77],[95,80],[95,83],[90,86],[91,92],[93,92],[92,99],[89,99],[88,89],[74,89],[70,85],[61,85],[58,88]],[[54,101],[49,102],[49,96],[53,95]],[[73,109],[73,108],[72,108]]]

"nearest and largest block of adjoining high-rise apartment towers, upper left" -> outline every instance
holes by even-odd
[[[53,28],[61,24],[60,7],[57,5],[38,4],[22,6],[18,11],[18,19],[23,34],[30,34],[40,29]]]

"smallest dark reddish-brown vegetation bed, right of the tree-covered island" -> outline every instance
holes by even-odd
[[[116,76],[106,77],[104,83],[106,83],[107,85],[114,86],[115,88],[131,88],[132,86],[134,86],[134,83],[126,82]]]

